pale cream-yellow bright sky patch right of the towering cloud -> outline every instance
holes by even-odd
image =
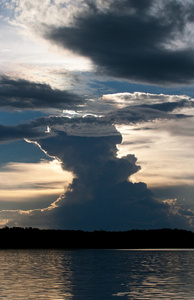
[[[139,130],[137,126],[117,126],[123,137],[118,156],[134,154],[141,166],[131,176],[132,181],[145,182],[150,188],[194,185],[194,136],[178,134],[184,123],[184,120],[148,122],[140,125]],[[193,118],[190,124],[191,131]],[[170,126],[176,128],[177,134],[170,131]]]

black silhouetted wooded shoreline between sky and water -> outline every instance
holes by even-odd
[[[81,231],[0,229],[0,249],[191,249],[194,232],[181,229]]]

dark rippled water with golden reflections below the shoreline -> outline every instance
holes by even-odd
[[[0,299],[194,299],[194,251],[1,250]]]

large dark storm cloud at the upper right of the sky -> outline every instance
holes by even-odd
[[[73,24],[47,27],[44,36],[114,77],[159,85],[193,82],[193,48],[186,36],[193,4],[114,0],[99,8],[97,0],[86,3]]]

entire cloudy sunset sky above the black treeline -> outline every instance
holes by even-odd
[[[194,230],[191,0],[2,0],[0,227]]]

